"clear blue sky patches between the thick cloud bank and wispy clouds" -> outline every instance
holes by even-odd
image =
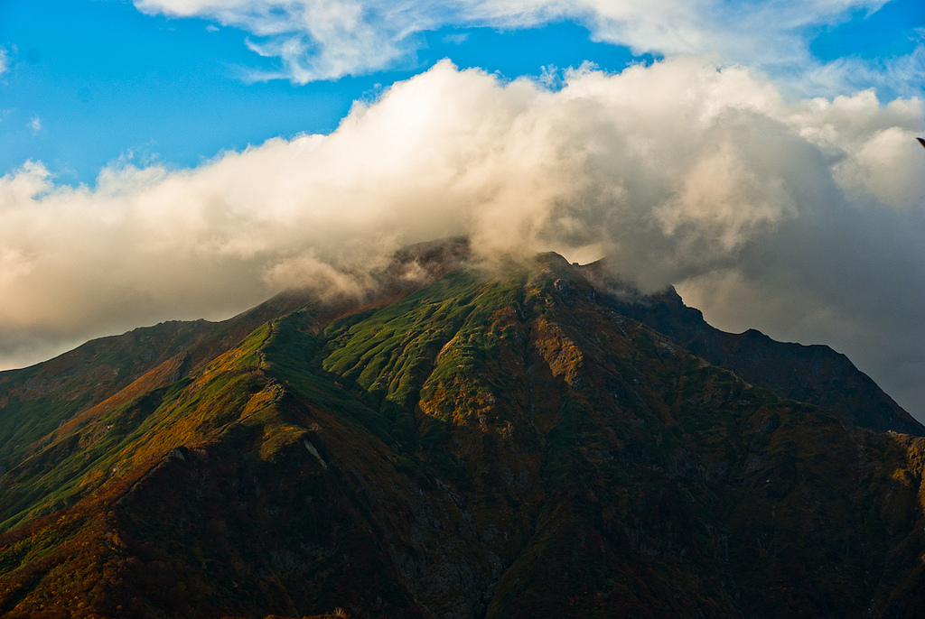
[[[722,4],[715,10],[722,21]],[[0,47],[7,65],[0,75],[0,174],[39,160],[60,183],[93,184],[100,169],[120,158],[193,166],[274,136],[327,133],[354,100],[375,96],[445,57],[459,67],[483,67],[514,79],[586,61],[620,71],[665,53],[658,42],[648,49],[635,42],[634,54],[615,37],[592,35],[580,18],[517,24],[499,17],[493,27],[457,17],[448,18],[456,23],[437,21],[429,24],[434,30],[415,32],[407,52],[385,70],[356,67],[358,75],[300,83],[287,79],[280,58],[247,46],[260,37],[246,30],[245,18],[226,18],[232,24],[226,26],[214,11],[186,18],[170,11],[148,13],[119,0],[0,4]],[[804,95],[833,96],[872,86],[882,99],[921,96],[921,80],[895,88],[882,79],[882,65],[920,48],[925,3],[893,0],[872,13],[870,6],[856,3],[808,19],[794,29],[781,27],[790,44],[808,45],[808,55],[790,63],[796,67],[769,57],[761,68]],[[692,51],[714,53],[709,45]],[[834,84],[813,84],[805,75],[808,66],[845,60],[862,62],[871,75],[843,76]],[[741,62],[736,57],[721,61]],[[254,72],[281,77],[255,80]]]

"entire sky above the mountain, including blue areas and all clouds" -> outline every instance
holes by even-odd
[[[4,0],[0,369],[465,234],[925,419],[923,100],[921,0]]]

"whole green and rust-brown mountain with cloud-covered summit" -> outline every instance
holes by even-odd
[[[925,429],[846,358],[466,247],[0,373],[0,614],[925,616]]]

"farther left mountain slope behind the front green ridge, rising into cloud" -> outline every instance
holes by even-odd
[[[85,467],[35,477],[85,450],[103,453],[114,441],[159,406],[164,388],[203,369],[265,322],[295,309],[311,308],[317,324],[351,312],[388,304],[457,268],[469,255],[465,238],[420,243],[397,252],[369,284],[364,297],[329,295],[324,301],[307,291],[277,295],[225,322],[164,322],[127,334],[93,340],[74,351],[24,370],[0,372],[0,530],[70,504],[93,488]],[[75,441],[92,420],[96,438]],[[116,430],[113,430],[116,428]],[[98,440],[105,436],[105,440]],[[71,458],[73,459],[73,458]]]

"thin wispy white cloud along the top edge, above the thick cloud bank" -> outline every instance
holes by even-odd
[[[636,54],[712,54],[723,65],[760,67],[802,93],[871,86],[921,93],[923,46],[893,60],[823,64],[809,51],[814,32],[872,13],[886,0],[135,0],[148,14],[199,17],[246,30],[253,51],[282,60],[297,83],[338,79],[413,63],[423,33],[450,27],[531,28],[573,20],[591,37]],[[449,37],[460,36],[450,34]]]

